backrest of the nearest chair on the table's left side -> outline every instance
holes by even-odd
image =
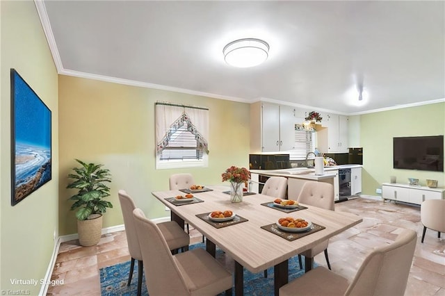
[[[179,272],[159,227],[148,220],[140,208],[133,211],[133,219],[138,232],[149,295],[189,295],[186,281]]]

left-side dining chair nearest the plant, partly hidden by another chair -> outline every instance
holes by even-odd
[[[127,244],[131,256],[131,266],[127,286],[131,284],[133,277],[134,261],[138,261],[138,295],[142,287],[142,270],[143,270],[143,256],[139,247],[138,234],[134,227],[133,210],[136,208],[133,199],[124,190],[118,192],[120,208],[122,208],[122,215],[124,217],[125,234],[127,236]],[[158,224],[163,236],[167,240],[168,248],[170,250],[177,250],[182,248],[182,251],[188,250],[190,244],[190,236],[181,229],[176,222],[161,222]],[[174,251],[176,252],[176,251]]]

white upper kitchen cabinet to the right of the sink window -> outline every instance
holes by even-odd
[[[327,114],[323,117],[323,126],[317,133],[318,150],[322,153],[348,153],[348,117]]]

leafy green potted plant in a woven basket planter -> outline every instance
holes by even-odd
[[[106,182],[111,182],[110,170],[103,165],[84,163],[76,159],[81,167],[73,167],[74,173],[68,174],[73,179],[67,188],[77,189],[77,193],[70,197],[74,202],[71,210],[76,211],[77,231],[79,242],[83,246],[97,245],[102,234],[102,213],[106,208],[113,208],[111,202],[104,200],[110,196],[110,188]]]

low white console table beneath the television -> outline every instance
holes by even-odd
[[[382,198],[410,204],[421,204],[426,199],[445,199],[444,188],[410,186],[399,183],[383,183]]]

